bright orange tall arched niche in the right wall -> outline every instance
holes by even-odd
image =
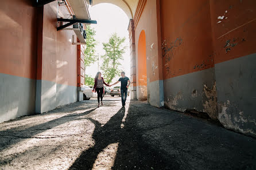
[[[142,30],[138,41],[138,100],[147,100],[147,69],[146,69],[146,34]]]

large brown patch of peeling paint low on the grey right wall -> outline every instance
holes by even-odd
[[[208,88],[207,85],[204,85],[203,92],[208,99],[203,104],[203,112],[216,120],[218,118],[216,82],[212,88]]]

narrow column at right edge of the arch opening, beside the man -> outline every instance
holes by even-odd
[[[131,81],[131,86],[130,86],[130,95],[131,99],[137,99],[137,92],[136,92],[136,53],[135,53],[135,33],[134,33],[134,21],[133,19],[130,19],[129,22],[129,40],[130,40],[130,81]]]

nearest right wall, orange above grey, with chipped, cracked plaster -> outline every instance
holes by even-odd
[[[255,136],[256,1],[160,2],[165,106]]]

